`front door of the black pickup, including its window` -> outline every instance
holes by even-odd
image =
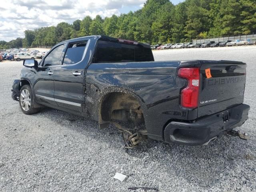
[[[54,101],[54,70],[61,64],[64,47],[62,44],[51,50],[38,66],[34,92],[39,102],[57,105]]]

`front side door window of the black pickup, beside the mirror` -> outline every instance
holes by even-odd
[[[50,54],[47,55],[47,57],[44,59],[44,66],[52,66],[52,65],[61,65],[60,57],[62,55],[63,49],[65,45],[60,45],[54,50],[50,52]]]

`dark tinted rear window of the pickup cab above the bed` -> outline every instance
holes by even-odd
[[[99,40],[94,54],[94,63],[154,61],[150,48],[119,42]]]

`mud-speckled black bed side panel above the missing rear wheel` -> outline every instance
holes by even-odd
[[[98,120],[99,102],[105,90],[128,90],[140,99],[150,137],[162,140],[164,125],[170,119],[187,119],[192,111],[179,105],[180,88],[186,81],[176,76],[180,62],[129,62],[90,64],[86,74],[87,108]],[[100,93],[96,93],[97,87]],[[96,98],[97,97],[97,98]],[[197,115],[196,113],[192,113]],[[196,118],[196,117],[194,117]],[[158,120],[157,122],[155,120]],[[150,135],[152,134],[152,135]]]

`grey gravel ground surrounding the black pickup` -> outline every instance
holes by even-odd
[[[208,146],[150,140],[125,150],[113,127],[98,130],[92,120],[49,108],[23,114],[10,92],[22,62],[0,62],[0,191],[134,192],[128,187],[148,186],[161,192],[256,192],[256,46],[153,53],[155,60],[246,62],[244,103],[251,110],[239,130],[247,132],[250,140],[224,135]],[[116,172],[127,178],[114,180]]]

